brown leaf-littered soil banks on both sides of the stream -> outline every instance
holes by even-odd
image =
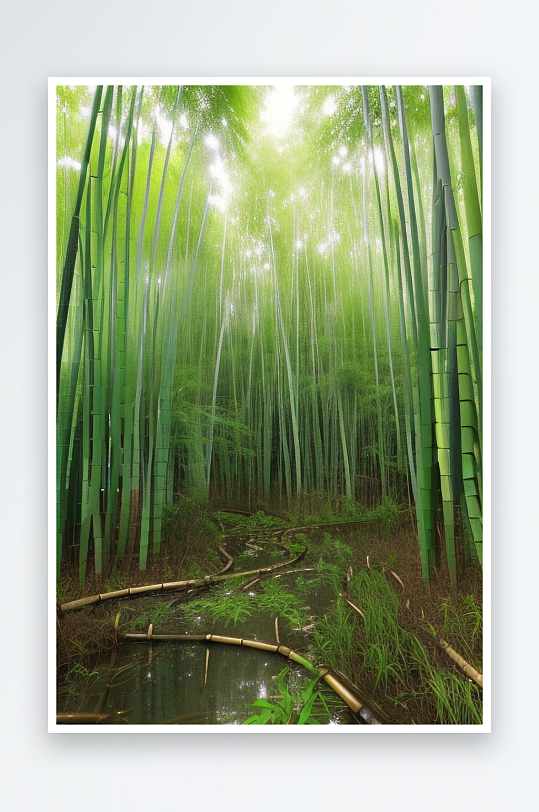
[[[286,520],[289,517],[283,514],[282,518]],[[150,560],[144,572],[134,563],[120,574],[114,571],[99,579],[90,577],[81,589],[77,583],[75,568],[64,568],[57,595],[59,683],[77,664],[89,668],[97,655],[113,648],[114,619],[121,602],[107,600],[69,612],[62,612],[60,604],[127,586],[158,584],[217,572],[222,566],[216,554],[220,540],[215,536],[210,540],[204,532],[197,537],[197,527],[204,527],[207,531],[207,518],[202,517],[201,521],[202,524],[198,520],[191,522],[187,547],[185,543],[181,547],[165,544],[160,557]],[[320,523],[322,525],[323,522]],[[352,550],[349,576],[350,573],[365,568],[387,574],[388,583],[399,602],[399,625],[420,641],[435,667],[463,676],[461,669],[438,644],[437,641],[441,638],[482,673],[482,627],[478,629],[478,617],[482,613],[483,581],[479,565],[468,564],[466,568],[460,566],[457,589],[451,587],[443,566],[431,574],[429,581],[425,581],[411,514],[403,515],[390,525],[372,522],[361,525],[343,523],[329,527],[328,523],[327,529],[332,534],[338,533],[338,538]],[[346,571],[343,572],[342,586],[346,590]],[[353,684],[358,684],[361,674],[358,663],[354,673],[347,676]],[[411,679],[413,682],[413,677]],[[402,701],[386,701],[387,693],[400,696]],[[392,690],[378,691],[376,702],[393,724],[435,724],[437,720],[433,718],[433,703],[426,702],[424,697],[424,685],[403,687],[395,683]]]

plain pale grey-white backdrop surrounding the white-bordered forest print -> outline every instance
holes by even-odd
[[[484,809],[533,793],[536,26],[530,4],[19,2],[3,9],[2,806]],[[48,77],[491,77],[492,732],[47,732]],[[54,319],[54,314],[52,314]],[[488,342],[489,336],[486,336]],[[487,355],[488,361],[488,355]],[[487,363],[486,383],[488,385]],[[54,401],[53,401],[54,402]],[[487,415],[488,417],[488,410]],[[490,437],[485,437],[490,445]],[[52,462],[54,462],[52,460]],[[526,806],[528,805],[525,801]]]

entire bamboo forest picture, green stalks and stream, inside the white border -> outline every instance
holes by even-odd
[[[301,82],[51,90],[65,729],[483,724],[483,86]]]

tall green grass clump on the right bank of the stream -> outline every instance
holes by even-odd
[[[362,569],[348,584],[348,594],[359,612],[339,599],[316,624],[313,656],[348,675],[370,696],[421,708],[432,724],[480,724],[482,694],[464,675],[439,667],[421,641],[399,622],[400,603],[386,576]],[[465,601],[462,622],[479,634],[477,606]],[[462,607],[461,607],[462,608]],[[445,607],[448,624],[455,612]]]

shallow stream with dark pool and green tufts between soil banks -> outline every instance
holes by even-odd
[[[223,581],[192,590],[189,596],[174,592],[120,601],[121,631],[146,632],[152,622],[154,633],[212,633],[280,642],[308,657],[313,626],[336,599],[338,582],[346,573],[346,548],[334,545],[327,534],[312,533],[305,557],[290,568],[241,582]],[[234,557],[231,572],[267,567],[291,557],[263,538],[231,541],[226,549]],[[198,611],[200,603],[193,602],[201,599]],[[227,605],[228,617],[226,608],[222,609]],[[99,717],[102,724],[124,726],[238,725],[261,712],[253,702],[278,703],[282,696],[277,681],[283,669],[288,669],[286,690],[292,704],[297,704],[313,675],[279,654],[205,641],[120,642],[112,655],[60,686],[57,712],[107,714]],[[281,688],[283,684],[281,680]],[[316,689],[326,707],[317,701],[311,719],[320,724],[353,722],[348,707],[331,688],[319,682]]]

